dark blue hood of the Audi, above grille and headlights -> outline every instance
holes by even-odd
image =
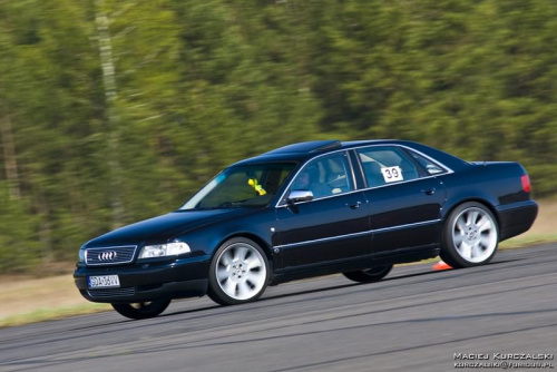
[[[222,222],[223,219],[237,218],[254,209],[209,209],[209,211],[176,211],[158,217],[145,219],[131,225],[115,229],[89,241],[87,247],[140,245],[145,243],[164,243],[185,232]]]

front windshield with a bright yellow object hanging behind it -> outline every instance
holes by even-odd
[[[261,163],[224,169],[180,209],[264,206],[276,195],[295,163]]]

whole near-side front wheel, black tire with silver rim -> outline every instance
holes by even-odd
[[[270,275],[265,252],[251,239],[235,237],[211,262],[207,295],[221,305],[252,302],[263,294]]]

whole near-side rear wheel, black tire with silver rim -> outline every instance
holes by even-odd
[[[499,225],[483,204],[457,206],[443,226],[441,260],[455,268],[485,265],[499,244]]]

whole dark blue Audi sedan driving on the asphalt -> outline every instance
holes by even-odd
[[[267,285],[342,273],[370,283],[440,255],[487,264],[538,206],[518,163],[469,163],[404,140],[321,140],[238,161],[179,209],[86,243],[81,295],[147,319],[174,298],[223,305]]]

